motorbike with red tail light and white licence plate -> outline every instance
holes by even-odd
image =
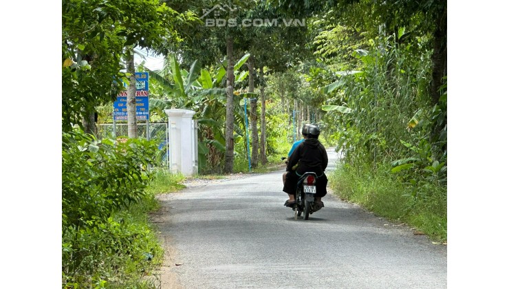
[[[285,158],[281,158],[284,160]],[[321,207],[316,205],[316,179],[318,176],[313,172],[306,172],[301,175],[297,182],[297,189],[295,192],[295,204],[292,210],[295,212],[294,217],[297,220],[304,213],[304,220],[309,220],[310,215]]]

